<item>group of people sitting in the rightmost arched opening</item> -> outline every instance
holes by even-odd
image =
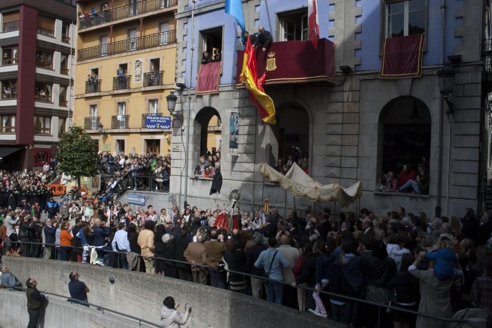
[[[379,176],[376,190],[429,195],[429,184],[429,161],[422,157],[422,161],[417,165],[417,171],[407,163],[403,165],[399,175],[396,175],[395,171],[390,171]]]

